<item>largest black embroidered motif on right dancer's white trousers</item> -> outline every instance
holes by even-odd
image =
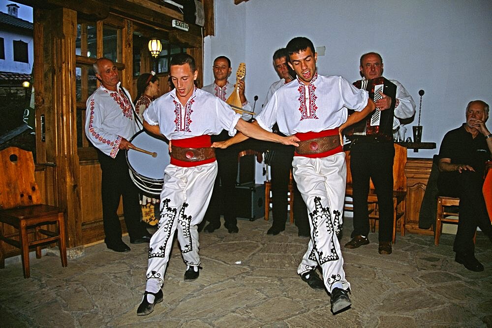
[[[337,251],[335,249],[335,244],[333,243],[333,237],[335,235],[335,229],[333,228],[333,222],[332,222],[332,216],[330,213],[330,208],[324,208],[321,206],[321,198],[320,197],[314,197],[314,210],[309,213],[309,217],[311,218],[312,226],[313,226],[313,231],[312,231],[312,236],[313,236],[313,247],[316,253],[318,254],[318,263],[320,265],[328,262],[328,261],[337,261],[339,259]],[[320,231],[318,230],[318,225],[319,222],[322,220],[326,221],[326,234],[328,235],[327,238],[330,239],[330,246],[329,251],[330,254],[324,254],[323,250],[318,248],[317,244],[317,239],[320,238]],[[321,227],[323,228],[323,227]],[[330,238],[331,235],[331,238]],[[326,249],[326,246],[325,246]],[[310,257],[310,255],[309,255]]]

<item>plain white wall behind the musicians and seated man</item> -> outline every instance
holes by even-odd
[[[365,21],[371,21],[366,23]],[[215,36],[204,41],[204,82],[213,82],[212,60],[232,61],[233,82],[246,62],[246,96],[263,103],[278,79],[275,50],[295,36],[326,46],[318,71],[360,78],[359,58],[369,51],[383,57],[384,76],[399,80],[417,103],[425,90],[423,141],[437,149],[408,150],[409,157],[432,157],[443,135],[464,121],[470,100],[492,102],[492,1],[490,0],[215,0]],[[488,122],[492,129],[492,119]]]

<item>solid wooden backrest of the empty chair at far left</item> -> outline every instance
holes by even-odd
[[[41,204],[34,169],[31,151],[17,147],[0,151],[0,209]]]

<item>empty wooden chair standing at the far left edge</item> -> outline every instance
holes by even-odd
[[[65,222],[62,209],[41,204],[41,194],[34,179],[34,161],[30,151],[16,147],[0,151],[0,268],[5,266],[3,242],[21,250],[24,277],[29,278],[29,248],[58,243],[62,267],[67,266]],[[5,233],[4,224],[16,233]],[[57,225],[56,232],[44,227]]]

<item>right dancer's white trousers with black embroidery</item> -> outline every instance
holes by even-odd
[[[311,230],[307,252],[297,273],[303,274],[319,265],[328,291],[332,291],[334,284],[348,289],[350,284],[345,279],[337,238],[345,201],[345,153],[323,158],[294,156],[292,165],[292,174],[307,206]]]

